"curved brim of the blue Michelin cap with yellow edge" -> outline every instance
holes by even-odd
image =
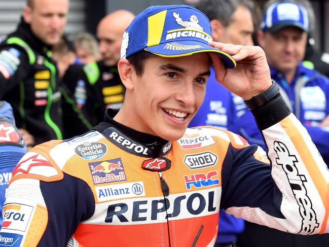
[[[235,68],[236,66],[236,61],[228,53],[201,42],[169,42],[152,47],[147,47],[144,50],[161,57],[181,57],[200,52],[216,52],[223,59],[225,67]]]

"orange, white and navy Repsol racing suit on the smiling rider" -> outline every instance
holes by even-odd
[[[110,114],[111,116],[109,116]],[[281,97],[254,112],[268,157],[238,135],[175,142],[112,118],[34,147],[13,171],[2,241],[13,246],[212,246],[218,212],[282,231],[329,231],[329,172]]]

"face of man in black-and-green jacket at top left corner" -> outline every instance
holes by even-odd
[[[47,45],[55,45],[62,37],[68,12],[68,0],[34,0],[25,7],[24,20],[32,32]]]

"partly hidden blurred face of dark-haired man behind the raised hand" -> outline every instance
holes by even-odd
[[[252,32],[253,23],[250,11],[238,5],[220,42],[235,45],[253,45]]]

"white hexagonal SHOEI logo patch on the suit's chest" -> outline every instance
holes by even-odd
[[[207,166],[215,165],[217,162],[217,155],[211,152],[203,152],[198,154],[188,154],[184,157],[184,163],[190,169],[198,169]]]

